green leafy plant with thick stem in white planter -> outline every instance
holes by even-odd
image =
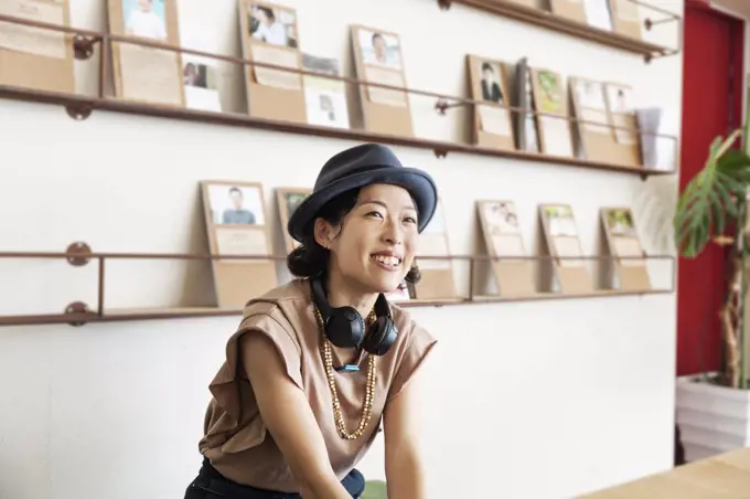
[[[735,144],[744,137],[738,129],[717,137],[708,160],[681,194],[674,216],[675,243],[679,254],[695,258],[709,244],[731,246],[729,282],[720,310],[725,367],[719,380],[731,387],[747,387],[744,373],[743,304],[748,280],[748,213],[750,156]],[[733,234],[725,232],[733,226]]]

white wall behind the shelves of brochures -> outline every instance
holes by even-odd
[[[73,22],[101,28],[100,3],[72,0]],[[415,88],[464,95],[467,53],[510,62],[528,55],[566,75],[632,84],[644,105],[662,105],[679,123],[679,56],[645,65],[461,7],[442,12],[432,0],[285,3],[298,9],[303,50],[342,56],[346,71],[346,24],[362,23],[400,34]],[[682,13],[683,0],[661,3]],[[234,0],[181,6],[185,24],[236,22]],[[212,26],[223,28],[206,22],[204,39],[213,40]],[[81,64],[79,75],[90,67]],[[89,91],[92,81],[79,88]],[[461,136],[465,116],[437,118],[432,104],[413,98],[417,134]],[[277,220],[275,187],[311,185],[328,157],[353,145],[108,113],[76,123],[58,107],[7,100],[0,137],[6,251],[62,251],[73,241],[95,251],[205,251],[199,180],[262,182]],[[537,203],[568,202],[593,254],[599,208],[630,204],[644,185],[604,171],[396,151],[435,176],[459,254],[476,251],[473,201],[481,198],[516,200],[532,248]],[[0,312],[56,312],[77,299],[93,306],[94,267],[0,263]],[[194,305],[211,284],[201,264],[117,263],[107,275],[113,307]],[[465,287],[465,275],[457,277]],[[413,310],[440,340],[425,401],[430,498],[559,499],[671,466],[674,295]],[[207,384],[236,325],[233,317],[0,329],[0,498],[182,497],[201,461]],[[368,478],[383,476],[381,445],[362,463]]]

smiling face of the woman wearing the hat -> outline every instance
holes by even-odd
[[[417,252],[417,211],[406,189],[374,184],[363,188],[339,227],[319,221],[330,235],[331,276],[358,293],[390,293],[411,268]],[[320,242],[320,238],[319,238]]]

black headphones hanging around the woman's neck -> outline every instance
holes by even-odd
[[[390,318],[390,306],[383,294],[375,301],[375,322],[365,330],[365,321],[354,307],[331,307],[320,277],[311,278],[310,285],[331,343],[341,348],[360,347],[374,355],[384,355],[396,342],[398,328]]]

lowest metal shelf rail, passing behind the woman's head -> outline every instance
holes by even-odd
[[[216,261],[216,259],[255,259],[265,262],[283,262],[286,255],[215,255],[215,254],[200,254],[200,253],[108,253],[108,252],[93,252],[88,244],[84,242],[75,242],[68,245],[64,252],[0,252],[0,261],[8,259],[64,259],[74,267],[83,267],[90,262],[96,262],[97,265],[97,299],[94,307],[89,307],[84,301],[72,301],[60,314],[32,314],[32,315],[14,315],[0,316],[0,326],[29,326],[29,325],[71,325],[83,326],[89,322],[115,322],[115,321],[133,321],[133,320],[157,320],[157,319],[181,319],[195,317],[222,317],[222,316],[238,316],[242,309],[227,309],[219,307],[176,307],[162,309],[108,309],[106,307],[105,297],[105,282],[107,262],[111,261],[151,261],[151,259],[167,259],[167,261]],[[494,257],[489,255],[447,255],[447,256],[417,256],[418,261],[451,261],[464,262],[469,264],[469,294],[468,296],[451,297],[446,299],[430,299],[420,300],[410,299],[400,301],[403,307],[441,307],[450,305],[476,305],[490,302],[516,302],[516,301],[537,301],[550,299],[571,299],[571,298],[597,298],[611,296],[631,296],[631,295],[656,295],[656,294],[672,294],[675,290],[675,258],[672,255],[644,255],[642,257],[620,257],[611,255],[597,256],[512,256],[512,257]],[[475,291],[475,278],[479,270],[479,264],[490,264],[500,261],[532,261],[536,263],[557,263],[559,264],[566,259],[574,261],[596,261],[609,262],[613,261],[666,261],[669,264],[669,286],[666,288],[651,288],[643,290],[617,290],[617,289],[597,289],[593,293],[586,294],[566,294],[551,291],[537,291],[532,295],[523,296],[504,296],[504,295],[482,295]]]

